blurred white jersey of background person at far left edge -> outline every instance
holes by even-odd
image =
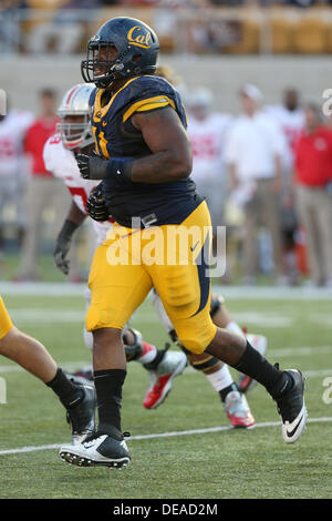
[[[23,167],[23,139],[33,114],[11,111],[0,121],[0,177],[13,177]]]

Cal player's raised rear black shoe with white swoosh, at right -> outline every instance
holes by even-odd
[[[278,412],[282,419],[282,437],[286,443],[294,443],[301,437],[308,420],[304,403],[304,377],[297,369],[284,372],[293,380],[292,387],[281,397],[276,398]]]

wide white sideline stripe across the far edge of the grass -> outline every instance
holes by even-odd
[[[1,282],[0,295],[81,296],[85,288],[85,284]],[[326,288],[214,285],[212,290],[226,298],[250,300],[332,300],[332,289]]]

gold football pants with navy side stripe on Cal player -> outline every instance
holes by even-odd
[[[86,329],[123,329],[155,287],[179,341],[203,353],[216,335],[207,274],[211,223],[203,202],[180,225],[127,228],[114,224],[91,266]]]

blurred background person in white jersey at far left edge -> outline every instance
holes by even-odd
[[[27,168],[23,155],[23,136],[32,124],[30,112],[11,110],[0,114],[0,260],[4,243],[4,207],[14,210],[17,236],[21,243],[25,215],[23,193],[27,184]]]

